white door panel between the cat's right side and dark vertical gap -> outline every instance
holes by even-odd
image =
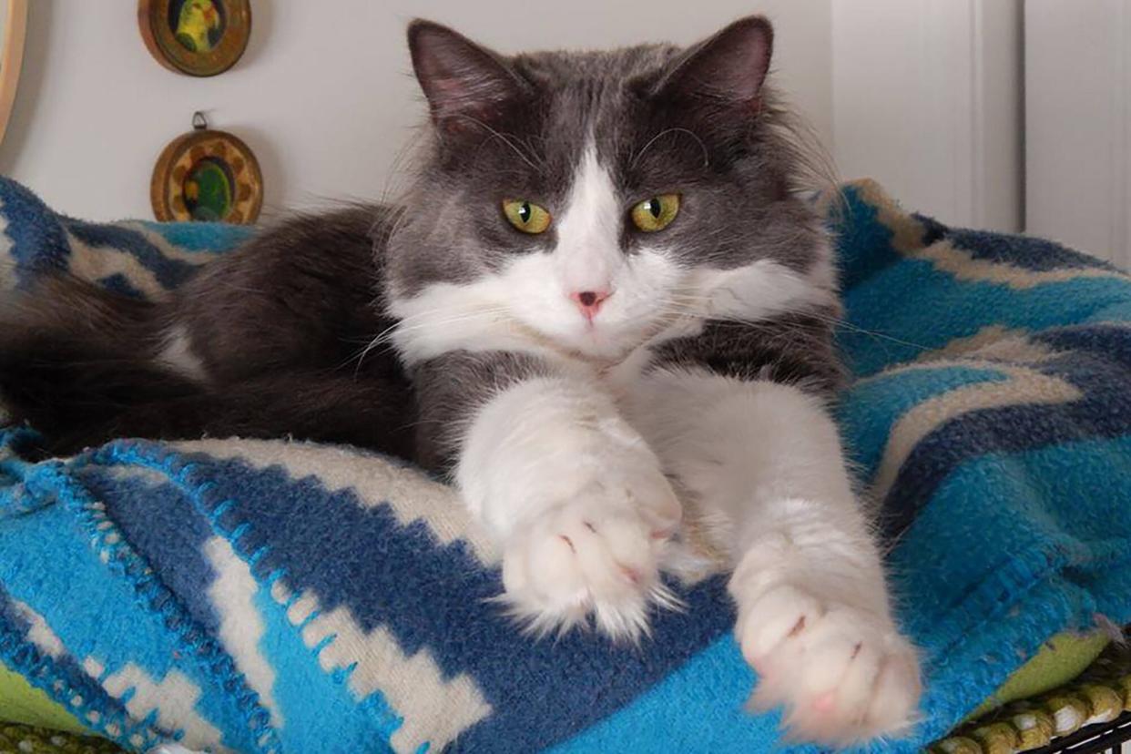
[[[1020,0],[832,0],[840,174],[947,223],[1020,229],[1021,12]]]

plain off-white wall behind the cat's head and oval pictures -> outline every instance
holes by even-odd
[[[252,37],[232,70],[165,70],[138,33],[135,0],[32,0],[24,73],[0,172],[78,217],[150,217],[149,175],[195,110],[259,156],[265,211],[379,198],[423,109],[405,24],[451,24],[506,52],[690,43],[753,10],[777,24],[776,69],[828,141],[829,0],[252,0]]]

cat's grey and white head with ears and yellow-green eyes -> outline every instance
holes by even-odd
[[[389,244],[409,359],[544,347],[616,361],[701,319],[830,298],[802,159],[749,17],[687,50],[507,58],[408,29],[431,139]]]

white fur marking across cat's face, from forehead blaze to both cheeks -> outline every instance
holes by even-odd
[[[623,205],[590,142],[564,203],[551,208],[553,250],[517,254],[472,284],[437,284],[391,302],[402,321],[390,339],[402,357],[518,350],[615,364],[648,344],[694,335],[708,319],[749,322],[836,301],[826,262],[808,275],[771,260],[689,268],[676,263],[662,233],[627,253]],[[571,298],[582,292],[607,296],[592,317]]]

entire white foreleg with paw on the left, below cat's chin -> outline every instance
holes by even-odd
[[[647,631],[650,603],[674,599],[661,555],[681,518],[659,459],[584,382],[533,379],[480,410],[456,478],[502,544],[500,598],[535,633],[593,616],[615,638]]]

